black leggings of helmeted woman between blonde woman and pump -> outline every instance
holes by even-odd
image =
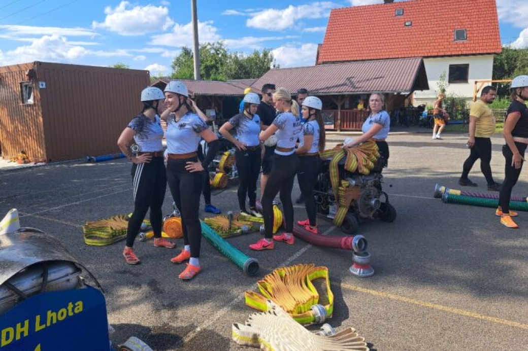
[[[304,200],[306,213],[311,226],[315,226],[315,216],[317,207],[315,205],[314,187],[319,173],[319,155],[299,156],[299,169],[297,170],[297,180],[299,181],[300,196]]]

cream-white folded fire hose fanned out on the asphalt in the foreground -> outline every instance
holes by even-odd
[[[368,351],[365,338],[354,328],[333,336],[318,335],[307,330],[271,300],[266,311],[251,314],[245,324],[233,323],[232,338],[243,346],[268,351]]]

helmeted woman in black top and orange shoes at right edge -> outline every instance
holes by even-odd
[[[510,197],[512,189],[521,174],[524,162],[524,151],[528,146],[528,75],[515,77],[511,84],[512,103],[506,112],[504,121],[504,139],[506,145],[502,147],[502,154],[506,159],[504,166],[504,182],[499,194],[499,206],[495,214],[501,216],[501,223],[510,228],[518,228],[512,220],[517,213],[510,211]]]

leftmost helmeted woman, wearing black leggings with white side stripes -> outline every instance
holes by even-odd
[[[117,145],[133,163],[134,212],[128,221],[127,242],[123,256],[128,264],[140,261],[133,251],[134,240],[148,209],[150,223],[154,231],[154,246],[172,249],[175,244],[162,238],[162,205],[167,188],[167,177],[163,160],[163,129],[158,112],[159,101],[164,99],[163,91],[155,87],[145,88],[141,92],[143,111],[134,117],[121,132]],[[130,146],[137,145],[136,155]]]

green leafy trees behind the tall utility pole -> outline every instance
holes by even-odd
[[[250,55],[228,52],[223,42],[200,45],[200,75],[202,79],[225,81],[229,79],[259,78],[274,64],[271,50],[253,51]],[[172,62],[172,78],[193,79],[193,52],[182,48]]]

